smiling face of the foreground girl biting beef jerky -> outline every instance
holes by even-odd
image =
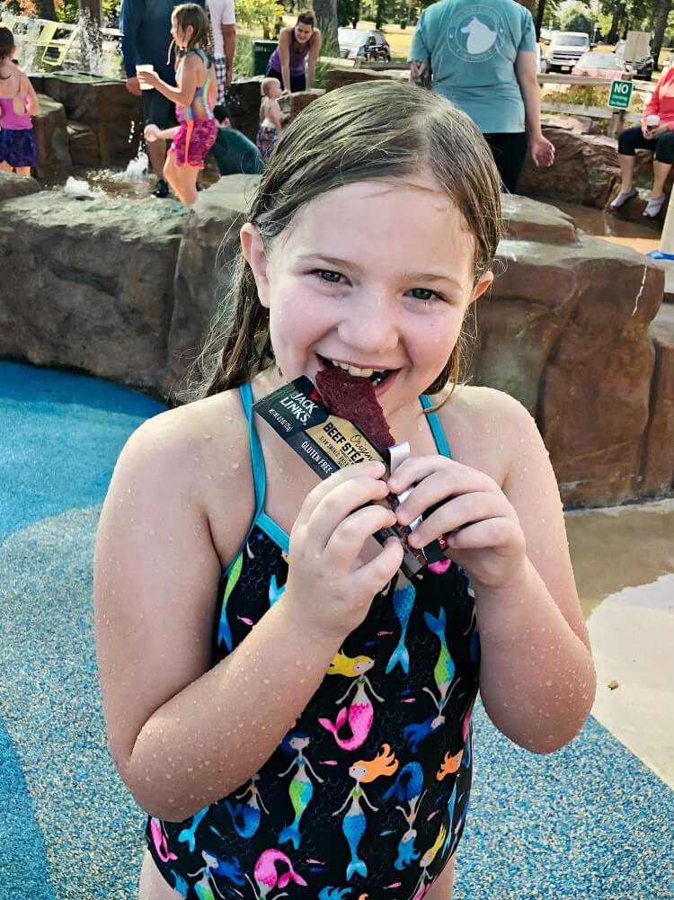
[[[391,425],[409,404],[418,409],[469,304],[492,280],[487,273],[473,285],[474,239],[430,176],[321,194],[269,259],[253,226],[242,229],[242,244],[283,380],[314,381],[330,365],[361,377],[383,372],[375,393]]]

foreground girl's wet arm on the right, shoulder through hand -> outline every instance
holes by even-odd
[[[580,731],[595,694],[557,482],[528,412],[506,394],[466,390],[477,398],[458,398],[473,439],[459,448],[457,460],[463,456],[471,465],[410,459],[393,476],[409,466],[402,483],[390,479],[389,486],[399,493],[407,483],[419,485],[400,507],[407,507],[405,519],[445,497],[415,534],[426,544],[449,533],[449,554],[471,578],[484,707],[512,741],[553,752]],[[449,417],[445,411],[445,427],[459,433],[457,419]],[[481,447],[481,429],[487,428],[494,445]]]

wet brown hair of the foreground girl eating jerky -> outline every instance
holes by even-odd
[[[471,119],[416,85],[346,85],[310,103],[274,149],[247,221],[267,255],[301,208],[343,184],[432,175],[454,201],[474,238],[474,279],[490,269],[501,235],[499,174]],[[447,247],[452,252],[452,247]],[[461,340],[428,393],[460,380]],[[252,270],[238,252],[229,294],[197,359],[186,399],[236,388],[274,365],[269,313]]]

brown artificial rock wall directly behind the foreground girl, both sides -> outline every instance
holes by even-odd
[[[0,356],[175,396],[227,292],[258,182],[223,178],[191,210],[45,191],[4,200]],[[652,324],[661,268],[542,203],[505,197],[504,213],[473,381],[535,415],[568,505],[666,493],[674,359],[670,320]]]

